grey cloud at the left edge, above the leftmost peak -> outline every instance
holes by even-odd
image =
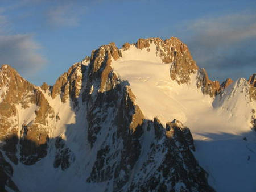
[[[16,33],[7,12],[26,6],[31,0],[13,1],[2,7],[0,15],[0,65],[10,64],[26,76],[33,76],[46,63],[39,43],[33,34]],[[39,2],[39,0],[33,3]]]

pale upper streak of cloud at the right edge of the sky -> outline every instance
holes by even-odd
[[[256,14],[232,14],[195,20],[187,30],[203,45],[218,47],[256,37]]]

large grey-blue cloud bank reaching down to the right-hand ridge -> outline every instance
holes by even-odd
[[[187,44],[194,59],[200,67],[210,69],[212,76],[221,80],[244,77],[244,69],[256,65],[256,14],[198,19],[185,27],[191,36]]]

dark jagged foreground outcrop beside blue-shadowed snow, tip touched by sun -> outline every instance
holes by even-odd
[[[177,120],[166,127],[165,131],[156,118],[147,123],[147,131],[154,130],[156,135],[153,132],[154,139],[135,170],[129,191],[214,191],[191,153],[194,144],[188,128]]]

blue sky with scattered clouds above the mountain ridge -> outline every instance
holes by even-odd
[[[256,1],[0,1],[0,63],[35,85],[100,45],[171,36],[212,80],[256,73]]]

